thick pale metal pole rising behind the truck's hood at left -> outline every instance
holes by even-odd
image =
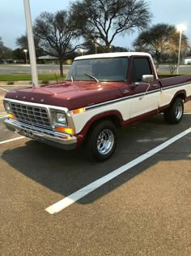
[[[23,0],[23,4],[24,4],[24,11],[25,11],[27,32],[28,32],[28,50],[29,50],[29,56],[31,61],[31,68],[32,68],[32,86],[39,87],[38,74],[37,74],[37,68],[36,68],[35,44],[34,44],[34,37],[32,34],[31,8],[30,8],[29,0]]]

